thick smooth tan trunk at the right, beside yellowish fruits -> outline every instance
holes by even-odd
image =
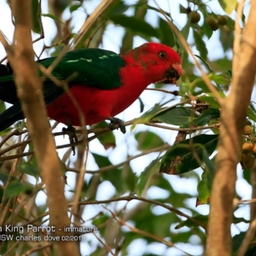
[[[211,192],[207,255],[232,254],[230,225],[233,218],[236,167],[241,157],[242,131],[256,73],[255,26],[256,2],[252,1],[239,51],[234,55],[237,64],[232,67],[232,89],[221,109],[220,141]]]

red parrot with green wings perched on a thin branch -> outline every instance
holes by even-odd
[[[36,62],[48,68],[55,59]],[[38,74],[44,76],[40,71]],[[110,120],[111,124],[118,124],[123,133],[124,122],[115,116],[138,99],[149,84],[176,83],[181,74],[179,54],[156,42],[147,42],[120,54],[98,48],[69,51],[52,70],[54,77],[68,81],[68,90],[81,109],[86,125]],[[81,126],[81,114],[67,91],[47,78],[43,89],[49,118],[68,127]],[[0,114],[0,131],[3,131],[25,118],[9,63],[0,65],[0,100],[12,104]]]

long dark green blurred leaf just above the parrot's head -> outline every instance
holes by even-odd
[[[153,28],[145,20],[137,19],[135,17],[129,17],[126,15],[114,15],[110,19],[124,28],[129,28],[134,32],[140,33],[140,35],[158,37],[157,29]]]

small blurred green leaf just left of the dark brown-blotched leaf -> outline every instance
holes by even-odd
[[[135,134],[138,150],[146,150],[164,145],[164,141],[154,132],[144,131]]]

